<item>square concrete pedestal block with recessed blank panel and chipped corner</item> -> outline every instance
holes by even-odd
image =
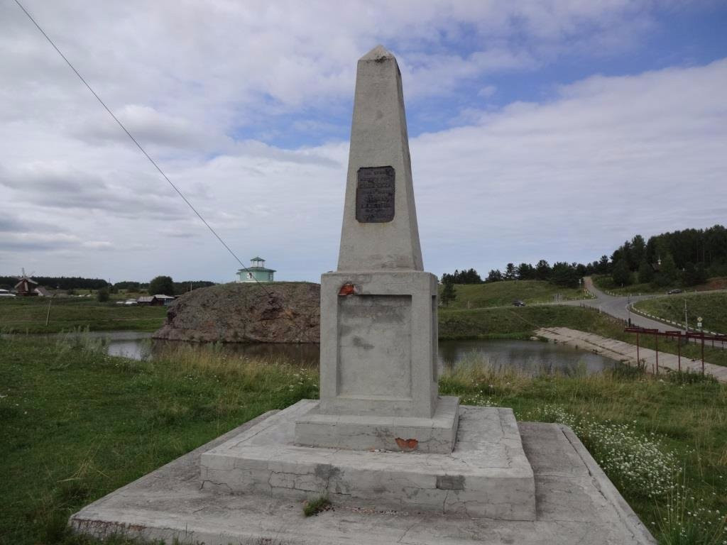
[[[321,413],[433,416],[436,296],[422,271],[323,275]]]

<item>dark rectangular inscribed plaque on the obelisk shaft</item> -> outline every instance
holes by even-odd
[[[356,219],[361,223],[385,223],[394,219],[393,166],[358,169]]]

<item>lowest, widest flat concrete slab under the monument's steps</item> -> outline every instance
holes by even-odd
[[[71,525],[97,536],[123,532],[206,545],[655,544],[577,438],[558,424],[519,424],[535,474],[534,521],[337,504],[332,511],[305,518],[297,501],[200,488],[201,453],[265,416],[95,501],[74,514]]]

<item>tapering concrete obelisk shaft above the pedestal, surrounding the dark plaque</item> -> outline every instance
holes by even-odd
[[[356,219],[358,171],[394,170],[394,214],[388,222]],[[382,46],[358,60],[338,270],[423,270],[411,182],[401,72]]]

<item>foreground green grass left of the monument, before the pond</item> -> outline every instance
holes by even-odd
[[[74,339],[77,339],[74,337]],[[0,543],[79,544],[69,514],[270,409],[315,371],[181,347],[141,363],[95,340],[0,340]]]

